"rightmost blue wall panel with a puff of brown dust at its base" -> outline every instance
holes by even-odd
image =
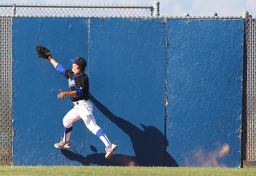
[[[240,167],[243,25],[168,19],[167,151],[179,166]]]

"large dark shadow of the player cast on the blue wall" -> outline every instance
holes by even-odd
[[[66,149],[62,149],[62,154],[70,159],[80,162],[83,165],[97,164],[100,166],[169,166],[178,167],[177,162],[172,156],[164,150],[164,144],[162,139],[164,135],[160,130],[154,126],[144,126],[140,124],[144,130],[140,130],[132,123],[115,116],[108,108],[101,104],[90,94],[90,100],[94,105],[116,124],[121,130],[123,130],[131,139],[135,156],[127,156],[122,154],[113,154],[111,158],[105,159],[105,153],[94,153],[87,155],[87,158],[71,152]],[[168,142],[166,142],[166,146]],[[164,153],[164,154],[163,154]],[[164,156],[164,158],[163,158]],[[104,159],[103,159],[104,158]]]

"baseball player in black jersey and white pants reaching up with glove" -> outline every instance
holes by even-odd
[[[66,78],[68,78],[68,92],[64,92],[60,89],[58,98],[64,99],[66,96],[70,96],[74,104],[72,108],[63,118],[64,125],[64,137],[59,143],[54,144],[56,148],[70,148],[70,134],[72,132],[73,122],[82,118],[86,127],[94,135],[97,135],[100,140],[105,144],[106,158],[110,158],[112,153],[116,150],[116,145],[112,144],[104,131],[96,124],[95,118],[92,115],[92,103],[88,101],[89,96],[89,82],[88,76],[84,73],[86,68],[86,60],[81,57],[77,57],[75,60],[70,59],[72,64],[72,70],[64,68],[61,64],[56,62],[50,54],[48,48],[44,46],[36,46],[36,52],[38,57],[49,60],[54,68]]]

